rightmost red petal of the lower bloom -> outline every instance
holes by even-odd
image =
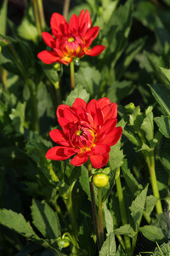
[[[105,136],[105,143],[110,146],[113,146],[118,142],[121,136],[122,136],[122,127],[121,126],[116,127],[114,131],[111,131]]]

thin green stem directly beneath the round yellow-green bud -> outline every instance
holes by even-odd
[[[102,212],[102,190],[98,188],[98,207],[99,207],[99,236],[101,247],[104,243],[104,224],[103,224],[103,212]]]

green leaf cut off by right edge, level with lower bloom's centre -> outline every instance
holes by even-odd
[[[161,117],[156,117],[154,121],[156,121],[159,131],[161,131],[165,137],[170,138],[170,116],[161,115]]]

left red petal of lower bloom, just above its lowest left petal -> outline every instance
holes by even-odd
[[[68,137],[65,136],[65,133],[61,130],[54,129],[49,132],[49,136],[54,141],[54,143],[58,143],[62,146],[71,146],[69,143]]]

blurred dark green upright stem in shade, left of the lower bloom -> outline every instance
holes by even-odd
[[[36,91],[33,90],[33,82],[31,79],[26,80],[26,84],[30,90],[31,95],[31,119],[32,119],[32,129],[33,131],[39,132],[39,120],[38,120],[38,113],[37,113],[37,95]]]

